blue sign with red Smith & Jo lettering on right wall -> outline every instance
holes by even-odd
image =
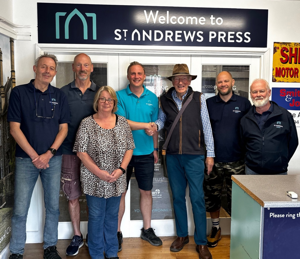
[[[296,87],[273,87],[272,101],[287,110],[300,110],[300,88]]]

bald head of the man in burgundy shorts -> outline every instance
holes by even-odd
[[[76,74],[75,80],[90,80],[91,72],[94,70],[91,58],[85,53],[75,56],[72,68]]]

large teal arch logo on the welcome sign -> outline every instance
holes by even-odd
[[[56,38],[59,39],[59,17],[60,16],[65,16],[67,13],[66,12],[57,12],[55,13],[55,34]],[[80,13],[76,8],[67,16],[67,19],[64,23],[64,38],[68,39],[69,38],[69,24],[70,20],[74,15],[77,15],[80,20],[82,21],[83,24],[83,39],[87,40],[88,39],[88,23],[85,20],[85,17],[83,16],[82,13]],[[94,13],[85,13],[87,17],[92,17],[93,20],[93,40],[97,39],[97,30],[96,30],[96,14]]]

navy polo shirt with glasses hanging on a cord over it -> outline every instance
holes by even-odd
[[[29,84],[19,85],[11,90],[7,121],[20,123],[20,129],[27,141],[41,155],[53,144],[59,124],[70,122],[70,113],[67,98],[61,90],[49,84],[43,93],[34,87],[33,81],[34,79]],[[55,156],[61,154],[61,148],[58,148]],[[29,155],[16,144],[16,157]]]

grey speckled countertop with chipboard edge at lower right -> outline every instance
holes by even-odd
[[[232,175],[238,184],[262,207],[300,207],[300,175]],[[298,194],[297,199],[286,191]]]

